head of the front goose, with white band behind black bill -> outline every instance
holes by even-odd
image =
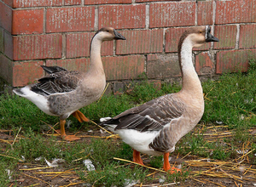
[[[206,42],[218,42],[218,38],[212,36],[210,26],[193,27],[183,34],[184,39],[187,37],[192,42],[193,47],[201,47]]]

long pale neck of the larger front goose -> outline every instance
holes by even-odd
[[[195,72],[195,67],[192,61],[192,42],[189,38],[185,38],[179,49],[178,57],[181,65],[181,71],[183,76],[183,88],[182,91],[189,90],[189,93],[202,93],[201,82]]]

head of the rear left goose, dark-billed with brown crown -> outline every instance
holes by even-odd
[[[103,27],[96,32],[95,36],[102,40],[102,42],[111,40],[125,40],[125,37],[112,27]]]

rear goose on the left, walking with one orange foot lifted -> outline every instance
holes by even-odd
[[[44,71],[48,73],[47,76],[40,78],[35,84],[15,88],[13,92],[31,100],[44,113],[59,116],[62,139],[79,139],[75,135],[65,133],[66,119],[73,115],[79,122],[90,121],[79,109],[90,105],[102,95],[106,77],[102,65],[101,46],[102,42],[112,40],[125,40],[125,37],[112,27],[96,31],[90,42],[90,69],[86,73],[42,65]]]

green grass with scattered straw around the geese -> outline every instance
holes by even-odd
[[[252,62],[247,73],[224,74],[218,81],[203,82],[205,113],[195,130],[177,143],[173,155],[229,161],[240,156],[237,150],[253,150],[247,159],[250,164],[256,164],[255,137],[249,131],[255,127],[256,122],[255,77],[256,64]],[[179,85],[168,84],[155,88],[152,83],[144,81],[142,84],[135,84],[129,94],[104,96],[101,101],[84,107],[81,111],[91,120],[99,122],[102,116],[116,116],[135,105],[179,89]],[[45,166],[44,160],[35,161],[39,156],[48,161],[54,158],[64,159],[65,163],[61,166],[63,170],[77,168],[75,173],[79,180],[94,186],[124,186],[132,181],[137,181],[137,184],[158,183],[161,176],[165,176],[164,183],[183,182],[189,176],[188,171],[176,175],[161,173],[154,176],[150,169],[114,160],[113,157],[128,161],[132,158],[131,147],[119,139],[91,138],[88,142],[67,144],[53,136],[45,138],[42,132],[46,132],[48,124],[55,125],[59,121],[58,117],[44,114],[30,101],[18,96],[4,94],[0,95],[0,100],[0,129],[11,130],[13,139],[16,135],[18,137],[14,144],[12,141],[0,144],[0,186],[18,186],[17,180],[22,173],[18,168],[23,162],[29,167],[34,164]],[[99,130],[92,123],[77,122],[73,116],[68,120],[68,132]],[[215,138],[213,133],[230,135],[218,135]],[[19,161],[22,157],[26,159],[23,162]],[[96,170],[89,172],[83,164],[84,159],[90,159]],[[162,167],[162,156],[145,156],[145,160],[148,160],[146,165],[150,167]],[[8,171],[12,173],[11,177]]]

